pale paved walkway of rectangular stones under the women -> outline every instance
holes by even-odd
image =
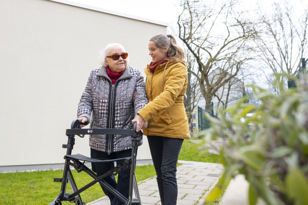
[[[203,205],[205,196],[215,187],[223,171],[221,164],[179,160],[177,167],[177,205]],[[142,205],[160,204],[156,177],[138,183]],[[107,196],[87,205],[109,205]]]

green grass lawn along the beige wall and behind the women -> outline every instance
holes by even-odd
[[[218,162],[217,155],[205,153],[197,147],[197,144],[184,140],[179,160]],[[72,170],[72,173],[78,188],[93,180],[83,171],[77,173]],[[137,166],[135,173],[137,182],[156,175],[153,165]],[[61,183],[53,182],[53,178],[62,178],[62,175],[63,170],[0,173],[0,204],[48,204],[59,194],[61,187]],[[69,190],[71,189],[68,184],[67,191]],[[95,184],[80,195],[85,203],[89,203],[103,197],[104,193],[99,184]],[[72,203],[63,202],[63,204]]]

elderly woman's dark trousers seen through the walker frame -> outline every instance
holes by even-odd
[[[120,152],[113,152],[108,155],[106,152],[97,151],[95,149],[91,148],[91,158],[96,159],[117,159],[122,157],[129,157],[132,155],[132,149],[120,151]],[[137,149],[136,149],[136,155],[137,155]],[[117,164],[121,164],[123,160],[117,161]],[[114,163],[91,163],[92,170],[96,172],[98,176],[103,175],[107,171],[111,170],[111,168],[114,167]],[[130,164],[128,164],[130,165]],[[120,171],[118,174],[118,183],[115,180],[115,176],[113,174],[107,176],[103,180],[110,184],[113,188],[115,188],[117,191],[119,191],[122,195],[124,195],[126,198],[128,198],[128,192],[129,192],[129,176],[130,176],[130,170],[131,169],[124,169]],[[102,186],[101,186],[102,187]],[[104,187],[102,187],[104,193],[109,197],[111,205],[122,205],[124,204],[121,202],[120,199],[115,197],[113,194],[111,194],[108,190],[106,190]]]

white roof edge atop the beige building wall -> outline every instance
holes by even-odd
[[[122,16],[122,17],[125,17],[125,18],[132,18],[132,19],[136,19],[136,20],[139,20],[139,21],[154,23],[154,24],[158,24],[158,25],[162,25],[162,26],[168,26],[168,23],[166,23],[166,22],[155,21],[155,20],[148,19],[148,18],[142,18],[142,17],[138,17],[138,16],[124,14],[124,13],[120,13],[120,12],[116,12],[116,11],[98,8],[98,7],[95,7],[95,6],[90,6],[90,5],[81,4],[81,3],[77,3],[77,2],[71,2],[71,1],[68,1],[68,0],[49,0],[49,1],[59,2],[59,3],[63,3],[63,4],[68,4],[68,5],[71,5],[71,6],[77,6],[77,7],[81,7],[81,8],[85,8],[85,9],[90,9],[90,10],[95,10],[95,11],[99,11],[99,12],[103,12],[103,13],[107,13],[107,14],[113,14],[113,15],[116,15],[116,16]]]

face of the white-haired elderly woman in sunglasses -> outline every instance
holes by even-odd
[[[125,50],[120,47],[120,46],[115,46],[109,49],[108,56],[112,56],[114,54],[119,54],[121,55],[122,53],[125,53]],[[127,66],[127,58],[123,59],[121,56],[118,60],[113,60],[112,58],[107,58],[106,59],[106,65],[110,68],[112,72],[120,73],[123,70],[125,70]]]

